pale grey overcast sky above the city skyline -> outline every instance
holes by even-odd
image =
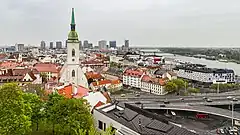
[[[0,0],[0,45],[67,38],[132,46],[240,47],[240,0]]]

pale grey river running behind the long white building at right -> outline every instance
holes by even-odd
[[[153,54],[153,53],[146,53],[146,54]],[[240,75],[240,64],[233,63],[233,62],[219,62],[217,60],[206,60],[204,58],[194,58],[194,57],[187,57],[187,56],[181,56],[181,55],[173,55],[170,53],[161,53],[157,52],[156,55],[164,56],[166,58],[171,59],[178,59],[184,62],[191,62],[194,64],[203,64],[206,65],[209,68],[228,68],[234,70],[236,75]]]

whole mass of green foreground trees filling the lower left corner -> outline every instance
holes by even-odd
[[[38,93],[38,92],[36,92]],[[41,95],[41,96],[39,96]],[[112,135],[94,128],[86,100],[57,93],[43,98],[14,83],[0,86],[0,135]]]

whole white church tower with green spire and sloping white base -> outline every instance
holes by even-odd
[[[79,62],[79,40],[76,32],[74,9],[72,9],[72,18],[70,24],[71,31],[67,39],[67,61],[60,72],[60,82],[65,84],[73,84],[75,86],[83,86],[88,88],[88,81],[83,73]]]

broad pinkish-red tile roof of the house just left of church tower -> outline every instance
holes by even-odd
[[[52,63],[38,63],[34,66],[39,72],[59,73],[60,69],[56,64]]]

